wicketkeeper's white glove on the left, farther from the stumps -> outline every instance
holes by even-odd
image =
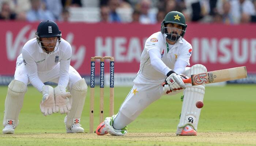
[[[55,101],[54,101],[54,89],[52,86],[44,85],[43,86],[43,98],[40,103],[41,112],[47,116],[56,112]]]

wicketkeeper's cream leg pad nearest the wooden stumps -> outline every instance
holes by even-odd
[[[73,124],[80,122],[87,93],[87,85],[84,78],[72,86],[70,93],[72,95],[72,107],[67,115],[67,122],[65,122],[67,128],[70,128]]]

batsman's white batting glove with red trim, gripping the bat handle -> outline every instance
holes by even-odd
[[[182,81],[181,76],[176,73],[172,73],[169,77],[167,77],[166,82],[172,91],[186,88],[186,85]]]

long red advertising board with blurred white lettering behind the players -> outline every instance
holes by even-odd
[[[90,74],[90,57],[113,56],[116,73],[136,73],[144,42],[160,24],[58,23],[62,37],[71,43],[71,65]],[[38,23],[0,22],[0,75],[13,75],[23,45],[35,37]],[[185,39],[193,47],[191,65],[207,70],[246,66],[256,73],[255,25],[188,24]]]

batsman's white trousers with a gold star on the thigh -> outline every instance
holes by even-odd
[[[138,74],[133,80],[134,85],[119,112],[129,119],[135,120],[148,105],[160,99],[162,95],[166,95],[162,87],[164,80],[152,81],[144,78],[142,74]],[[168,95],[175,95],[181,91],[183,90],[171,92]]]

